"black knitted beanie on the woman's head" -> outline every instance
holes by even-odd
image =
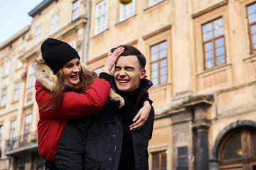
[[[63,65],[74,58],[80,57],[78,52],[71,47],[67,42],[48,38],[41,45],[41,52],[43,60],[56,74]]]

